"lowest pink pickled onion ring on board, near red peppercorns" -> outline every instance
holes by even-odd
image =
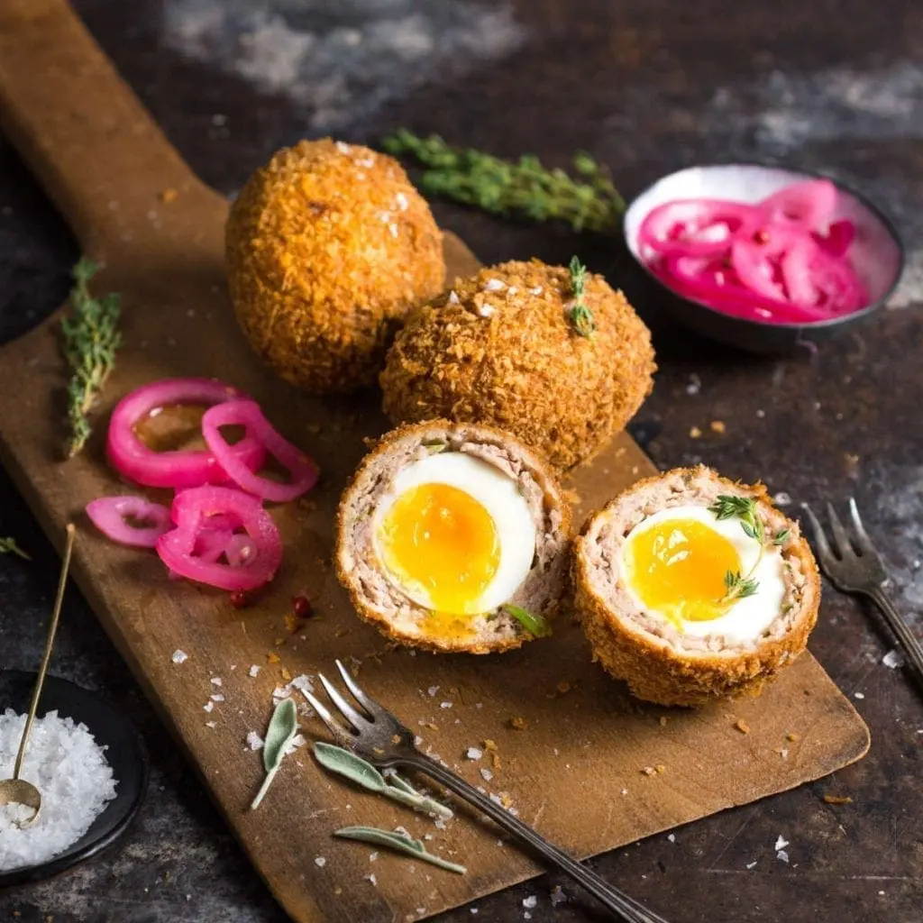
[[[282,563],[282,539],[269,512],[254,497],[233,487],[205,485],[186,490],[176,528],[157,540],[157,553],[174,573],[189,580],[208,583],[222,590],[256,590],[276,575]],[[197,556],[196,545],[209,520],[226,513],[244,529],[248,544],[241,542],[228,563]],[[236,537],[236,536],[234,536]],[[246,555],[243,549],[246,548]],[[234,562],[232,561],[234,558]]]

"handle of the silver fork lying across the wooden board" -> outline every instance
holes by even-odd
[[[558,849],[557,846],[548,843],[528,824],[514,817],[507,809],[498,805],[495,801],[491,801],[490,798],[482,795],[473,785],[469,785],[464,779],[450,772],[440,763],[420,754],[411,758],[402,758],[401,764],[407,769],[413,769],[429,776],[434,782],[444,785],[455,795],[461,797],[462,800],[467,801],[468,804],[485,813],[487,817],[497,823],[497,826],[502,827],[526,845],[531,846],[536,853],[545,857],[553,865],[556,865],[558,869],[567,872],[571,878],[578,881],[587,891],[593,894],[593,897],[601,904],[617,913],[619,917],[628,921],[628,923],[666,923],[663,917],[658,917],[651,911],[646,910],[643,905],[613,887],[575,858],[570,857],[563,850]]]

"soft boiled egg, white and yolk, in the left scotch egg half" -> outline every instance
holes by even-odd
[[[462,452],[397,473],[373,521],[376,555],[415,603],[455,616],[506,603],[533,566],[533,514],[516,482]]]

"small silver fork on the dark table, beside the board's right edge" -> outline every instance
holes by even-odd
[[[827,541],[827,536],[821,529],[821,523],[807,503],[804,509],[814,529],[814,541],[817,544],[823,572],[830,578],[837,590],[867,596],[879,607],[881,615],[884,616],[888,626],[904,647],[908,659],[917,667],[918,678],[923,683],[923,647],[920,646],[910,626],[881,588],[881,585],[888,579],[888,571],[884,567],[881,555],[871,544],[865,526],[862,525],[856,500],[849,498],[849,514],[853,524],[851,534],[845,530],[839,516],[836,515],[836,510],[833,509],[833,504],[827,504],[827,516],[833,532],[835,551]]]

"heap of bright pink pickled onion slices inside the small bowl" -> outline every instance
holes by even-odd
[[[641,260],[684,297],[725,314],[809,324],[859,310],[868,294],[848,257],[856,228],[831,222],[836,187],[807,180],[754,205],[682,199],[641,222]]]

